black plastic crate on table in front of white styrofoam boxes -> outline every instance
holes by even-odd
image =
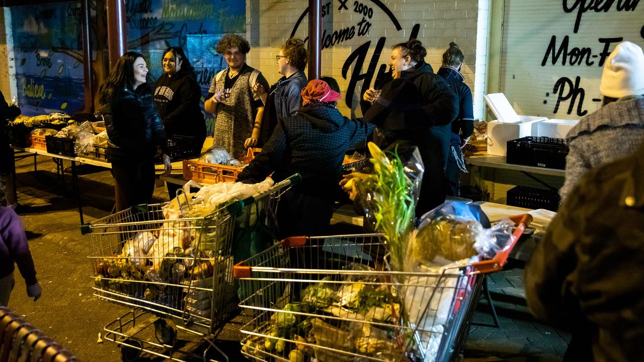
[[[568,145],[563,138],[524,137],[507,141],[507,163],[565,170]]]

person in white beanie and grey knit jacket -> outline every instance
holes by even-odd
[[[601,108],[582,118],[568,132],[562,202],[589,169],[634,152],[644,140],[644,53],[621,42],[606,59],[601,73]]]

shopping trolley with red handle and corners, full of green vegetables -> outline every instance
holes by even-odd
[[[529,223],[515,217],[514,243]],[[491,260],[391,271],[379,234],[296,237],[240,262],[242,353],[257,361],[455,361]]]

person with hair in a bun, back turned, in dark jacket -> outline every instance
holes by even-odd
[[[448,154],[446,169],[450,196],[460,195],[460,172],[467,172],[461,149],[468,143],[469,136],[474,131],[472,92],[464,83],[465,78],[460,73],[464,59],[459,46],[451,42],[450,48],[443,53],[442,67],[438,71],[438,75],[450,84],[459,98],[459,115],[451,122],[450,154]]]

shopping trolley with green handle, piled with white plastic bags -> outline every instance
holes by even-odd
[[[274,226],[278,199],[296,174],[265,192],[223,204],[205,217],[164,219],[166,204],[140,205],[82,227],[91,235],[94,295],[133,310],[106,325],[106,339],[120,345],[124,361],[141,352],[183,361],[176,331],[187,332],[227,356],[209,338],[237,309],[232,238],[239,227]],[[187,197],[178,196],[187,201]],[[189,203],[187,203],[189,204]],[[186,203],[178,207],[184,213]],[[246,223],[239,225],[239,223]],[[146,338],[148,327],[154,338]],[[212,361],[212,360],[210,360]]]

